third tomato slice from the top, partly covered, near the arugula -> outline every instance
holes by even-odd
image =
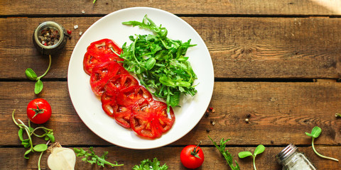
[[[109,94],[118,94],[121,89],[138,85],[139,81],[137,81],[135,77],[131,76],[130,74],[117,74],[107,81],[107,84],[104,86],[104,90]]]

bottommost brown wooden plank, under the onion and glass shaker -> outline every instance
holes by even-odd
[[[281,166],[276,162],[275,156],[281,152],[283,147],[266,147],[264,153],[257,155],[257,169],[276,169],[280,170]],[[79,147],[78,147],[79,148]],[[72,149],[72,148],[71,148]],[[88,148],[83,148],[87,150]],[[161,165],[166,164],[169,169],[185,169],[180,162],[180,152],[183,147],[161,147],[158,149],[148,150],[133,150],[124,149],[121,147],[95,147],[94,152],[101,155],[104,151],[109,152],[108,161],[117,161],[124,166],[116,166],[114,169],[131,169],[134,165],[140,164],[139,160],[158,158]],[[227,148],[237,160],[240,169],[253,169],[251,158],[239,159],[237,154],[242,151],[254,152],[254,147],[229,147]],[[341,158],[341,147],[335,146],[316,146],[318,152],[330,157]],[[340,162],[334,162],[328,159],[318,157],[311,147],[299,147],[299,150],[307,155],[311,162],[315,164],[317,169],[339,169]],[[202,147],[205,154],[205,161],[200,169],[229,169],[224,158],[215,149],[215,147]],[[1,169],[37,169],[38,153],[30,155],[30,159],[23,158],[25,149],[23,148],[0,148],[0,164]],[[124,154],[122,154],[124,153]],[[41,169],[48,169],[47,166],[48,154],[43,154],[40,162]],[[109,166],[107,166],[109,167]],[[77,157],[75,169],[102,169],[97,165],[82,162],[80,157]]]

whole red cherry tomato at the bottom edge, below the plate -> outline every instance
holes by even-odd
[[[202,152],[202,149],[199,147],[199,145],[188,145],[181,151],[180,161],[186,168],[196,169],[204,162],[204,153]]]

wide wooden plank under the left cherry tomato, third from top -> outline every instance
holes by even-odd
[[[44,85],[42,94],[36,96],[33,82],[0,82],[0,146],[21,145],[11,113],[16,109],[15,117],[26,123],[27,103],[37,97],[50,101],[53,115],[45,127],[53,129],[63,145],[111,145],[82,123],[68,96],[67,82]],[[203,116],[193,130],[171,145],[200,140],[209,145],[208,135],[230,138],[229,145],[310,145],[305,132],[314,126],[323,130],[317,145],[341,145],[341,119],[335,118],[335,113],[341,113],[340,94],[340,83],[215,82],[210,103],[215,113]]]

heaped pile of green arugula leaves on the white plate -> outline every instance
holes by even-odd
[[[133,41],[129,46],[124,43],[120,55],[124,59],[124,68],[133,72],[139,78],[142,85],[154,96],[166,99],[168,106],[178,106],[181,95],[194,96],[197,90],[193,86],[197,79],[193,68],[185,54],[190,40],[171,40],[167,38],[168,30],[156,26],[147,16],[142,22],[127,21],[122,24],[127,26],[139,26],[153,31],[155,34],[131,35]]]

